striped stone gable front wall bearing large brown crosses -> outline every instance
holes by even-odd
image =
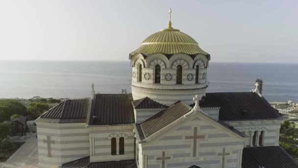
[[[143,164],[148,168],[238,168],[240,164],[243,138],[203,113],[196,112],[164,129],[141,145],[146,158]]]

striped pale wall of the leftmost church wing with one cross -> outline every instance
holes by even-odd
[[[38,156],[41,168],[57,168],[59,165],[89,156],[89,133],[85,123],[37,124]],[[47,136],[50,136],[48,156]]]

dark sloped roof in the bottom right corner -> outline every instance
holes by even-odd
[[[298,163],[280,146],[245,147],[242,168],[298,168]]]

